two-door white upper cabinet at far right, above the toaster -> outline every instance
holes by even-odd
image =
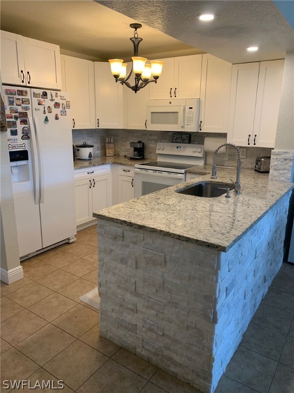
[[[228,142],[275,147],[284,60],[234,64]]]

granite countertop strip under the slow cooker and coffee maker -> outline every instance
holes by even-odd
[[[140,162],[148,162],[152,161],[152,159],[144,159],[144,160],[131,160],[125,156],[94,156],[91,160],[74,160],[74,169],[83,169],[90,168],[91,166],[99,166],[106,164],[117,164],[117,165],[130,165],[135,166],[135,164],[139,164]]]

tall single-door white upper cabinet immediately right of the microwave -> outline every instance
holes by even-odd
[[[205,54],[202,60],[199,131],[227,133],[232,64]]]

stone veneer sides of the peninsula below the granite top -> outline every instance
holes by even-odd
[[[289,196],[227,253],[99,219],[100,334],[213,392],[281,266]]]

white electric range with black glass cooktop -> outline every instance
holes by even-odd
[[[186,181],[187,169],[204,165],[204,145],[157,143],[157,161],[135,164],[135,198]]]

